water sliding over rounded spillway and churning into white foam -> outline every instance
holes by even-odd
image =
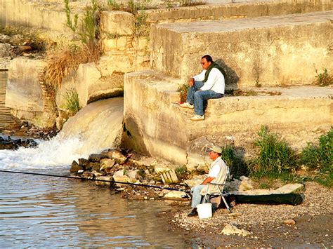
[[[115,146],[122,130],[123,97],[99,100],[82,108],[63,130],[37,148],[0,151],[0,168],[63,168],[73,160]]]

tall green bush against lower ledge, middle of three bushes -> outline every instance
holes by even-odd
[[[294,152],[285,141],[269,133],[265,126],[261,127],[258,135],[259,139],[254,141],[254,145],[259,148],[259,155],[250,167],[251,173],[281,175],[282,172],[295,170]]]

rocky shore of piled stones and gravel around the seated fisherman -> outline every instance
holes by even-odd
[[[189,189],[202,181],[200,171],[188,173],[188,180],[164,179],[166,173],[179,171],[166,162],[138,154],[125,156],[117,149],[108,149],[101,154],[92,154],[89,159],[79,159],[72,163],[71,172],[79,177],[134,184],[150,184],[158,187]],[[171,175],[171,174],[169,174]],[[167,177],[166,177],[167,178]],[[233,180],[228,186],[230,191],[249,194],[275,193],[285,187],[277,184],[278,189],[254,189],[256,182],[247,177]],[[98,182],[110,186],[110,182]],[[111,183],[112,184],[112,183]],[[232,213],[218,208],[213,217],[200,220],[188,217],[190,200],[182,198],[183,191],[170,191],[150,187],[136,187],[126,184],[112,184],[124,198],[136,200],[164,200],[171,205],[168,212],[160,216],[169,218],[169,229],[191,238],[203,246],[216,248],[230,246],[276,247],[296,246],[318,248],[332,247],[333,201],[331,189],[315,182],[303,182],[304,200],[298,206],[258,205],[236,203]],[[281,187],[282,186],[282,187]],[[282,191],[282,190],[281,190]],[[294,191],[294,190],[291,190]]]

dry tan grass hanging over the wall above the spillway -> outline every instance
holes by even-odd
[[[59,88],[67,74],[76,70],[81,63],[97,62],[100,54],[100,43],[49,53],[43,81],[49,86]]]

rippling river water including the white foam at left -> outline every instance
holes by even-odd
[[[75,149],[81,144],[54,137],[36,149],[1,150],[0,170],[67,175],[72,160],[86,157]],[[58,177],[0,172],[0,184],[1,248],[197,247],[157,217],[170,209],[164,201],[128,201],[93,182]]]

